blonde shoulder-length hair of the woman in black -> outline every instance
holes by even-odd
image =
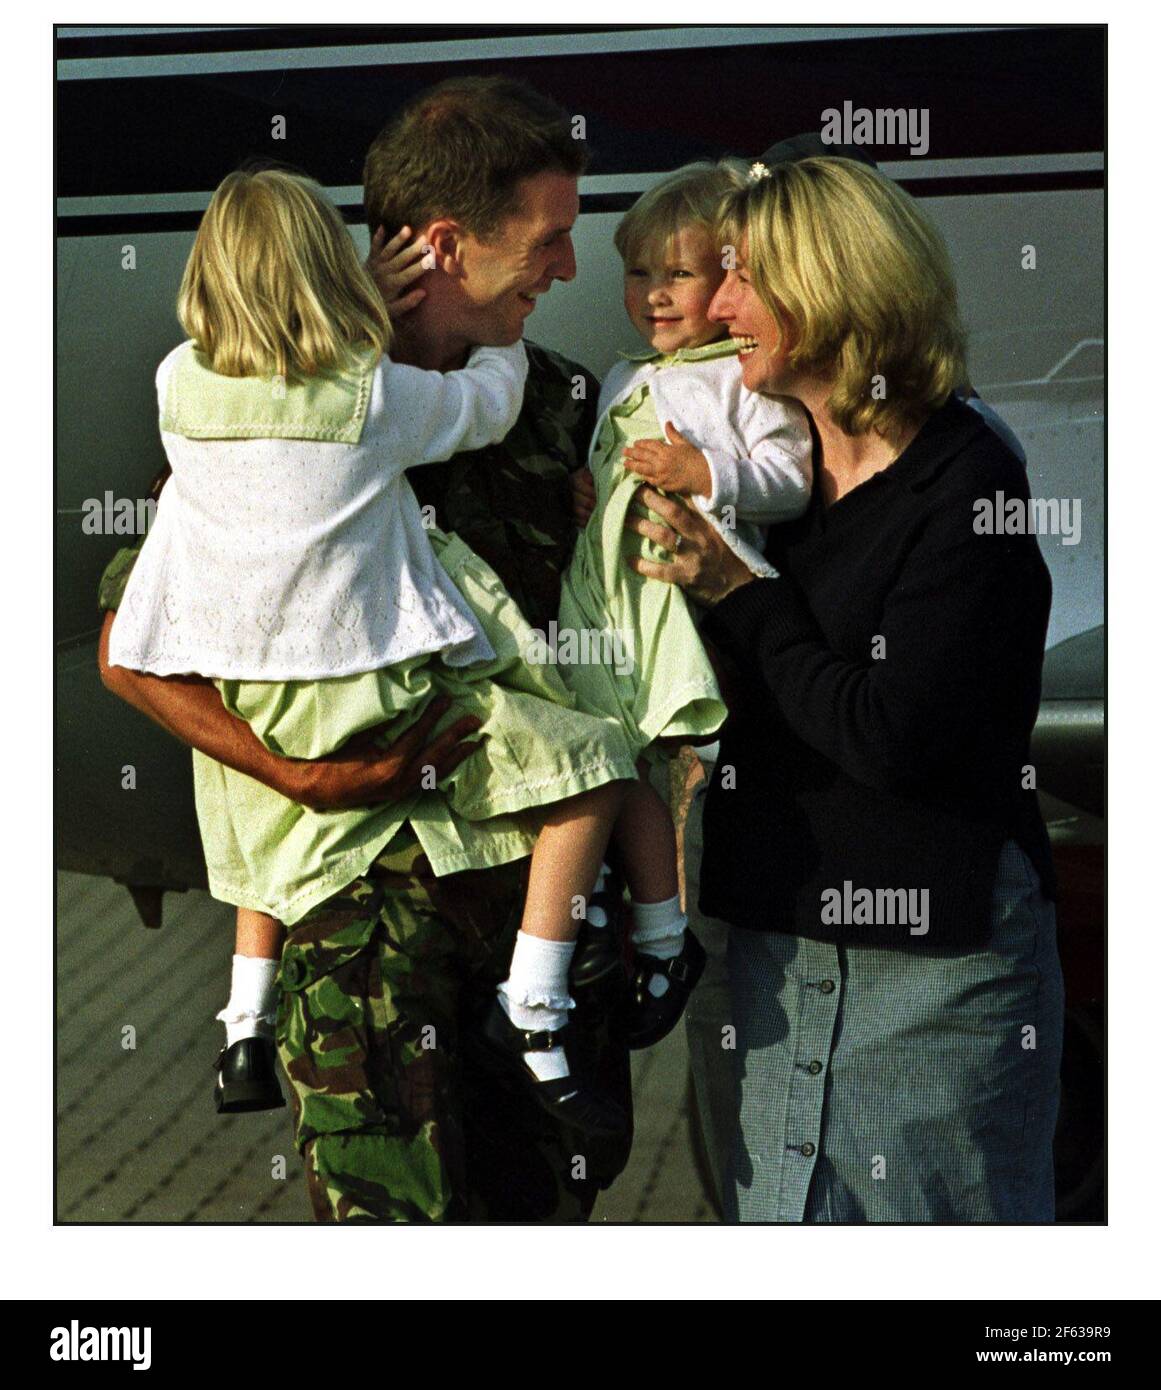
[[[729,196],[720,234],[734,246],[745,236],[788,366],[834,378],[827,407],[847,434],[897,435],[966,379],[947,246],[866,164],[776,164]]]

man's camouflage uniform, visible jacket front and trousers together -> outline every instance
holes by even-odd
[[[544,628],[576,537],[567,475],[585,456],[596,384],[527,346],[524,410],[505,442],[409,477]],[[523,1095],[498,1094],[471,1052],[476,1016],[508,974],[527,866],[437,880],[405,830],[291,931],[278,1045],[317,1219],[578,1220],[624,1166],[627,1144],[581,1151]],[[574,987],[571,1063],[628,1109],[623,990],[617,976]]]

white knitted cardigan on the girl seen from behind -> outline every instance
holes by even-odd
[[[167,403],[181,418],[170,377],[190,350],[157,370],[163,418]],[[434,652],[453,666],[489,660],[403,474],[503,439],[527,371],[523,343],[477,348],[449,373],[384,357],[353,443],[163,430],[172,477],[113,624],[110,664],[279,681]]]

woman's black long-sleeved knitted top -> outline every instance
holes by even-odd
[[[709,612],[740,680],[705,806],[702,912],[826,941],[982,945],[1009,837],[1054,897],[1022,785],[1051,581],[1033,535],[977,530],[997,492],[1028,499],[1023,467],[951,399],[830,507],[815,486],[806,514],[770,531],[781,577]],[[836,913],[844,888],[847,905],[861,888],[929,890],[926,935],[887,910]]]

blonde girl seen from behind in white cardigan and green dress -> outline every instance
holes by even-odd
[[[108,664],[214,678],[225,708],[285,758],[321,758],[368,731],[398,744],[421,728],[425,739],[434,709],[437,733],[463,737],[441,696],[481,731],[444,778],[352,810],[298,805],[195,752],[210,890],[241,909],[218,1108],[263,1108],[277,1088],[282,924],[334,901],[407,823],[437,877],[531,855],[521,930],[481,1042],[559,1122],[623,1134],[620,1106],[570,1073],[565,1041],[576,906],[635,776],[633,753],[553,666],[523,659],[534,634],[514,602],[457,537],[424,527],[405,478],[509,432],[523,345],[476,349],[462,371],[391,361],[382,302],[338,213],[316,183],[281,170],[239,171],[217,189],[179,318],[190,341],[157,374],[172,477]],[[634,845],[622,848],[633,863]],[[343,1091],[364,1020],[335,1023],[325,976],[293,981],[303,986],[307,1027],[328,1038],[328,1086]]]

